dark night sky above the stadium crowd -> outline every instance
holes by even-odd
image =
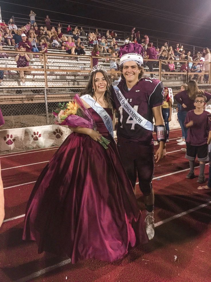
[[[130,31],[136,26],[141,34],[146,33],[149,37],[211,47],[210,0],[4,0],[0,1],[0,6],[5,21],[11,15],[28,18],[32,8],[39,20],[48,14],[56,22],[79,26],[122,31]]]

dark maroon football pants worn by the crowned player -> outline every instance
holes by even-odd
[[[140,190],[144,196],[150,195],[154,174],[154,146],[136,142],[118,142],[117,147],[132,186],[135,187],[138,174]]]

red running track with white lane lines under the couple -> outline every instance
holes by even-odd
[[[211,192],[197,190],[197,178],[185,178],[188,162],[176,143],[180,135],[180,130],[170,132],[167,156],[155,165],[154,239],[113,263],[72,265],[66,257],[37,254],[36,243],[22,241],[30,192],[57,148],[1,155],[5,222],[0,229],[0,281],[211,281]],[[208,178],[208,166],[205,172]],[[144,209],[138,185],[136,190]]]

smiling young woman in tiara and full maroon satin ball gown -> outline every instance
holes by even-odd
[[[89,94],[113,118],[108,76],[91,73],[82,94]],[[67,255],[72,263],[88,258],[112,262],[148,237],[116,143],[97,112],[97,131],[73,129],[38,178],[28,201],[24,240],[38,252]],[[110,140],[108,149],[97,142]]]

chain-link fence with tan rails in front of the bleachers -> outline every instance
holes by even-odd
[[[53,124],[52,112],[58,103],[69,102],[80,93],[97,64],[107,70],[110,83],[121,74],[119,58],[112,60],[109,54],[102,57],[18,54],[15,51],[0,54],[0,103],[5,118],[1,129]],[[143,67],[144,77],[162,80],[173,94],[189,79],[197,80],[200,89],[211,92],[210,62],[144,60]],[[176,105],[174,101],[173,108]]]

